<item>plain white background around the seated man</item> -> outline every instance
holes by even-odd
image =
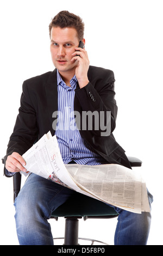
[[[61,10],[85,22],[90,64],[115,74],[118,105],[114,135],[126,154],[139,157],[142,175],[154,196],[148,245],[162,245],[162,1],[160,0],[2,0],[1,154],[15,124],[22,83],[54,69],[48,25]],[[17,245],[12,178],[0,174],[1,245]],[[54,220],[54,236],[64,235],[64,218]],[[117,220],[79,221],[79,236],[114,243]]]

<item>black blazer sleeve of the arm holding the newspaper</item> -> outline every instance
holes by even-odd
[[[10,136],[7,154],[4,156],[5,176],[10,176],[5,169],[7,157],[13,152],[23,155],[30,147],[32,147],[37,138],[36,113],[33,103],[30,100],[26,81],[23,83],[22,88],[21,105],[18,109],[14,131]]]

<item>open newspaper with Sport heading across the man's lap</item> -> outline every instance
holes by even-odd
[[[139,170],[120,164],[64,164],[57,137],[44,135],[23,156],[28,175],[35,173],[86,196],[141,214],[150,212],[147,188]]]

